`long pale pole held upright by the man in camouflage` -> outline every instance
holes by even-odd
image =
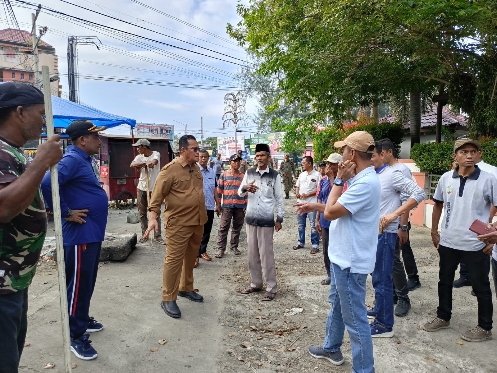
[[[45,96],[45,116],[47,120],[47,138],[54,135],[54,116],[52,113],[52,92],[50,89],[50,72],[48,66],[42,66],[43,91]],[[62,317],[62,345],[64,347],[64,369],[66,373],[72,372],[71,367],[71,336],[69,333],[69,310],[67,305],[66,288],[66,262],[64,259],[64,243],[62,241],[62,213],[59,195],[59,174],[57,165],[50,167],[50,180],[52,182],[52,200],[54,205],[55,220],[55,247],[57,249],[57,272],[59,275],[59,297]]]

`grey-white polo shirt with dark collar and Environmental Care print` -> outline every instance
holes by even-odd
[[[476,219],[489,221],[490,205],[497,205],[497,179],[475,165],[463,178],[457,171],[446,172],[438,180],[433,202],[444,204],[440,245],[463,251],[478,251],[485,244],[469,230]]]

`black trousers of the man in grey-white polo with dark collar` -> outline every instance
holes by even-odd
[[[486,267],[488,256],[482,250],[463,251],[440,245],[438,272],[438,308],[437,316],[449,321],[452,315],[452,281],[459,262],[463,260],[468,267],[469,280],[478,300],[478,325],[485,330],[492,329],[492,291]]]

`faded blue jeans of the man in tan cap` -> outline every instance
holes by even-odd
[[[374,373],[373,341],[366,316],[367,274],[351,273],[331,263],[331,286],[328,301],[330,313],[326,321],[323,349],[335,352],[343,342],[347,328],[352,349],[352,373]]]

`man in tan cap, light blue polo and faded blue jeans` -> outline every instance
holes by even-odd
[[[324,213],[324,218],[331,220],[330,236],[336,238],[328,247],[331,309],[325,342],[309,347],[309,354],[334,365],[343,364],[340,347],[347,328],[352,371],[374,373],[373,342],[366,317],[366,279],[374,269],[380,225],[381,186],[371,166],[374,140],[368,132],[356,131],[335,142],[334,147],[343,147],[343,162],[338,164],[326,205],[294,205],[301,214]],[[342,193],[345,181],[347,190]]]

